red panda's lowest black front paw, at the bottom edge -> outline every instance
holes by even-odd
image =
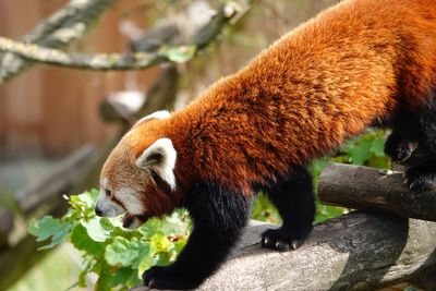
[[[191,275],[192,276],[192,275]],[[155,266],[143,274],[144,286],[152,289],[173,289],[187,290],[194,289],[199,284],[190,280],[189,274],[175,271],[171,266]]]

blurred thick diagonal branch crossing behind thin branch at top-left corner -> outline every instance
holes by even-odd
[[[113,0],[71,0],[24,36],[22,43],[33,43],[46,48],[66,46],[81,38],[111,3]],[[32,62],[12,52],[0,57],[0,84],[32,65]]]

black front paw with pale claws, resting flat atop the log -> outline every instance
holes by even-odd
[[[261,244],[266,248],[274,248],[281,252],[299,248],[307,238],[310,230],[304,235],[295,235],[287,229],[268,229],[262,233]]]

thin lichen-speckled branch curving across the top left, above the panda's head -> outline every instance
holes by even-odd
[[[185,62],[195,57],[199,49],[217,37],[225,25],[242,10],[237,10],[233,2],[220,7],[214,19],[189,46],[161,46],[155,52],[129,53],[75,53],[58,49],[24,44],[0,37],[0,51],[14,52],[28,61],[59,66],[87,70],[140,70],[162,62]]]

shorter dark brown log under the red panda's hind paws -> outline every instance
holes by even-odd
[[[400,172],[329,163],[319,177],[323,203],[436,221],[436,191],[411,191]]]

